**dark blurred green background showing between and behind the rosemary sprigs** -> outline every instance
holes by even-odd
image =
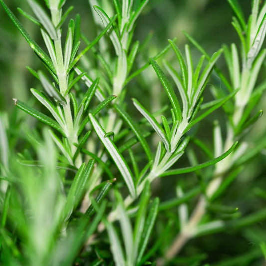
[[[33,39],[37,43],[42,43],[37,26],[25,19],[16,10],[16,7],[21,7],[23,10],[31,13],[26,1],[6,0],[5,2],[18,16]],[[96,35],[96,28],[87,0],[67,0],[65,8],[70,5],[74,5],[74,9],[71,12],[73,16],[76,13],[81,15],[83,34],[89,40],[92,40]],[[251,12],[251,3],[245,0],[241,1],[241,5],[247,17]],[[181,51],[184,51],[184,44],[188,43],[188,40],[182,32],[183,30],[186,30],[192,35],[209,54],[218,50],[224,43],[228,45],[232,42],[238,43],[237,34],[231,25],[232,15],[233,11],[226,0],[150,0],[137,22],[134,35],[134,38],[139,39],[141,43],[148,40],[146,46],[143,47],[142,56],[138,58],[139,65],[142,65],[143,62],[148,60],[149,56],[155,55],[165,47],[168,44],[167,39],[177,37],[176,42]],[[19,121],[23,117],[23,119],[25,118],[28,121],[28,125],[33,127],[36,124],[35,119],[25,115],[21,111],[15,110],[12,98],[32,101],[32,105],[34,104],[34,100],[30,97],[29,88],[38,88],[40,85],[27,71],[25,66],[29,65],[33,69],[42,68],[42,66],[39,60],[36,60],[34,53],[15,29],[2,8],[0,8],[0,22],[0,111],[6,111],[9,117],[18,116],[16,121]],[[191,50],[192,55],[199,58],[200,53],[192,45]],[[95,61],[95,58],[90,53],[88,54],[88,58],[91,59],[91,63]],[[164,59],[176,61],[172,51],[169,51],[164,56]],[[86,62],[83,62],[83,64],[86,64]],[[159,64],[161,64],[160,60]],[[221,69],[225,69],[225,61],[223,58],[219,59],[218,65]],[[177,67],[177,64],[175,66]],[[265,70],[264,65],[261,71],[261,80],[266,76]],[[226,75],[228,76],[228,73]],[[215,75],[210,79],[210,83],[212,83],[212,85],[208,85],[210,88],[211,86],[215,86],[216,88],[223,89],[221,80]],[[163,89],[151,67],[131,81],[127,86],[129,112],[134,113],[138,117],[140,115],[129,101],[131,97],[141,99],[142,104],[152,111],[158,110],[167,102],[166,95],[164,95]],[[211,93],[208,92],[208,87],[205,93],[207,99],[212,98]],[[255,112],[259,109],[265,109],[265,101],[266,98],[263,96],[260,106],[256,107]],[[213,147],[212,131],[214,119],[218,119],[222,125],[225,123],[222,109],[210,115],[199,127],[193,129],[197,130],[197,136],[211,149]],[[15,136],[19,131],[21,139],[18,143],[10,145],[10,147],[16,152],[21,152],[27,145],[26,142],[23,142],[23,128],[11,125],[10,129],[16,133],[9,132],[9,136],[12,134]],[[265,116],[263,116],[250,132],[249,140],[256,142],[261,136],[265,135],[265,132],[266,123]],[[198,150],[193,144],[191,144],[190,148],[196,151]],[[201,151],[198,151],[197,154],[200,162],[206,161],[206,155]],[[240,173],[226,194],[219,198],[220,203],[238,207],[243,216],[266,208],[266,199],[258,196],[261,195],[261,189],[266,190],[265,154],[266,151],[245,165],[245,171]],[[189,161],[185,156],[179,160],[180,167],[188,165]],[[205,170],[204,174],[208,176],[208,169]],[[195,174],[163,178],[153,184],[154,194],[159,196],[161,201],[165,201],[175,196],[174,188],[177,184],[181,185],[187,191],[195,183],[197,183]],[[191,200],[191,209],[193,209],[196,200]],[[216,213],[211,212],[210,215],[217,216]],[[225,216],[224,219],[226,220],[228,218]],[[177,208],[173,207],[166,212],[159,213],[157,220],[152,237],[154,240],[159,239],[161,242],[160,247],[158,247],[160,256],[160,253],[163,255],[164,247],[168,246],[172,241],[173,234],[171,232],[178,232]],[[165,230],[168,231],[168,234],[164,234],[164,238],[162,239],[160,236]],[[230,229],[226,232],[199,237],[190,241],[185,246],[178,259],[173,262],[173,265],[194,265],[193,263],[197,261],[201,262],[200,265],[208,262],[212,266],[263,265],[260,259],[262,258],[260,243],[265,239],[266,222],[256,223],[244,229]]]

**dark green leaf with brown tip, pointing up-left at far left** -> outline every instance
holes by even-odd
[[[15,106],[16,107],[18,107],[19,109],[23,110],[27,114],[30,114],[31,116],[37,118],[41,122],[53,127],[58,132],[60,132],[63,136],[65,136],[65,133],[63,132],[62,128],[59,126],[59,124],[56,121],[54,121],[53,119],[51,119],[47,115],[37,111],[36,109],[30,107],[29,105],[27,105],[24,102],[21,102],[21,101],[19,101],[17,99],[13,99],[13,100],[15,102]]]

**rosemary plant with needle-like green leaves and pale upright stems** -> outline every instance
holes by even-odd
[[[265,182],[254,171],[252,192],[234,188],[266,146],[253,131],[263,120],[266,2],[253,0],[245,19],[228,0],[239,41],[212,54],[187,32],[184,51],[175,38],[156,52],[150,35],[137,40],[149,0],[89,0],[92,40],[79,14],[69,18],[70,0],[27,0],[31,13],[18,11],[38,42],[6,2],[42,66],[27,66],[33,97],[14,95],[16,108],[0,113],[1,264],[260,265]],[[219,254],[227,232],[255,245],[212,258],[208,243]]]

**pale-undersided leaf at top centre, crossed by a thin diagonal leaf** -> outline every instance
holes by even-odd
[[[97,5],[93,6],[94,10],[97,12],[97,14],[100,16],[102,23],[105,27],[107,27],[108,24],[110,24],[110,18],[108,17],[108,15],[102,10],[102,8],[100,8]],[[117,56],[120,56],[122,54],[122,44],[120,41],[120,38],[118,36],[118,34],[116,33],[116,31],[114,30],[114,28],[112,27],[112,29],[107,31],[110,39],[113,43],[114,49],[115,49],[115,53]]]

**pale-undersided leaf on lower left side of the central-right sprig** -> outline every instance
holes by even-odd
[[[170,151],[169,139],[167,138],[166,133],[164,132],[163,128],[156,121],[156,119],[153,117],[153,115],[151,113],[149,113],[136,99],[132,99],[132,100],[133,100],[133,103],[136,106],[136,108],[148,120],[148,122],[151,124],[153,129],[157,132],[157,134],[159,135],[159,137],[163,141],[166,150]]]

